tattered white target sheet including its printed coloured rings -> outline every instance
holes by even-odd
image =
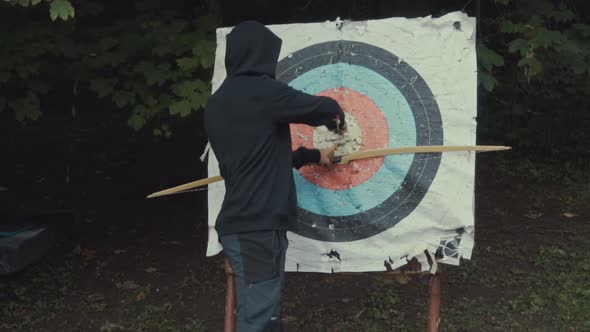
[[[348,132],[292,125],[293,149],[340,143],[337,154],[384,147],[475,145],[475,19],[390,18],[268,26],[283,40],[276,78],[330,96]],[[213,91],[223,82],[225,37],[217,30]],[[219,174],[214,151],[209,176]],[[474,152],[393,155],[326,169],[294,170],[298,230],[287,271],[385,271],[417,258],[423,269],[470,258],[474,241]],[[220,252],[214,229],[223,182],[209,186],[207,255]]]

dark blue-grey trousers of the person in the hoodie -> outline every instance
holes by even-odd
[[[286,232],[230,234],[220,240],[235,274],[236,332],[282,331]]]

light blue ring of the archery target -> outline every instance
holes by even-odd
[[[289,85],[309,94],[339,87],[362,93],[385,116],[389,127],[390,147],[416,145],[416,124],[407,100],[395,85],[370,69],[342,62],[328,64],[305,72],[289,82]],[[412,165],[413,157],[388,156],[371,178],[346,190],[322,188],[294,171],[297,203],[302,209],[330,217],[350,216],[374,208],[399,189]],[[384,178],[388,178],[385,186],[382,180]]]

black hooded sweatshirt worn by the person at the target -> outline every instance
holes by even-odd
[[[226,190],[215,228],[220,236],[295,230],[292,167],[318,162],[320,153],[292,152],[289,123],[335,129],[344,113],[331,98],[275,79],[282,41],[264,25],[241,23],[226,41],[227,77],[205,108],[205,129]]]

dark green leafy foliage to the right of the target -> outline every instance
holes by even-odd
[[[517,151],[583,158],[590,115],[590,25],[566,1],[496,1],[480,21],[480,133]],[[499,60],[498,57],[503,59]]]

